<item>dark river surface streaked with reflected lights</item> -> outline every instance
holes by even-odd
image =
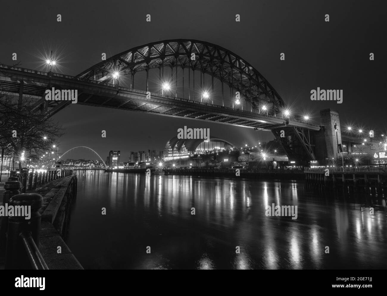
[[[67,243],[86,269],[387,268],[385,212],[370,216],[303,182],[78,176]],[[298,218],[265,216],[272,203],[298,206]]]

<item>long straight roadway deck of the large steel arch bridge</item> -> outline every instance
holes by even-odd
[[[120,87],[117,84],[86,80],[59,73],[0,65],[0,89],[13,94],[36,97],[36,108],[48,102],[45,107],[47,117],[71,104],[70,101],[46,101],[44,97],[45,90],[52,87],[78,90],[77,104],[81,105],[140,111],[262,130],[285,126],[285,119],[282,117],[241,111],[235,108],[156,93],[151,93],[150,98],[147,98],[146,91]],[[289,119],[288,126],[312,131],[320,130],[319,125],[295,119]]]

